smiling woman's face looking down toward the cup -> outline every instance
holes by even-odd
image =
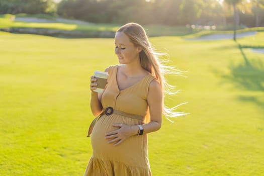
[[[120,64],[128,64],[139,61],[139,52],[141,48],[129,40],[128,36],[123,32],[117,32],[115,36],[116,55]]]

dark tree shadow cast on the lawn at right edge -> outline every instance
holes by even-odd
[[[248,46],[242,46],[239,43],[237,46],[243,56],[243,62],[238,65],[230,65],[230,74],[223,77],[233,82],[239,89],[251,92],[264,91],[264,60],[250,59],[249,61],[243,51],[243,48],[248,48]],[[264,107],[264,95],[261,97],[239,96],[238,100],[252,102],[260,108]]]

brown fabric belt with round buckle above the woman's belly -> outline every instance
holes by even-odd
[[[121,115],[121,116],[129,117],[129,118],[137,119],[137,120],[143,120],[143,118],[144,118],[143,116],[125,113],[125,112],[122,112],[122,111],[114,110],[112,107],[108,107],[106,109],[103,109],[103,112],[93,120],[93,122],[91,123],[91,125],[89,127],[87,137],[90,137],[96,122],[100,119],[100,117],[102,115],[110,116],[111,114],[118,114],[118,115]]]

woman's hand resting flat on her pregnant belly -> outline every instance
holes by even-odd
[[[120,144],[130,136],[136,135],[138,132],[138,126],[113,124],[113,127],[118,127],[119,129],[106,133],[105,139],[110,139],[108,143],[114,143],[114,146]]]

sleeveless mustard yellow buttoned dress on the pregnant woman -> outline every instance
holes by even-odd
[[[154,76],[148,74],[134,85],[120,91],[117,84],[117,70],[118,65],[108,68],[108,83],[102,96],[103,108],[112,107],[114,110],[144,117],[148,109],[148,86]],[[143,124],[143,120],[119,114],[102,115],[91,135],[93,155],[84,176],[151,175],[146,134],[131,136],[117,146],[113,146],[114,143],[109,144],[109,139],[105,139],[107,132],[117,129],[112,126],[113,123],[132,126]]]

